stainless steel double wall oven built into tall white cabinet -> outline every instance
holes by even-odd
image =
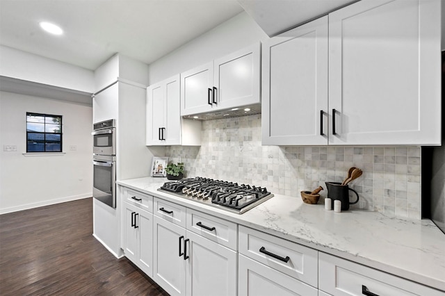
[[[116,207],[116,126],[115,120],[93,124],[92,197]]]

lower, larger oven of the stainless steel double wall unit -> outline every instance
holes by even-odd
[[[116,207],[116,162],[115,156],[95,155],[92,164],[93,185],[92,197],[111,206]]]

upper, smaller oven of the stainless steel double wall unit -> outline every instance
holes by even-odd
[[[115,120],[106,120],[93,124],[92,153],[96,155],[116,155]]]

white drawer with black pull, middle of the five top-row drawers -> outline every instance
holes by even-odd
[[[237,225],[234,222],[220,219],[187,208],[187,227],[204,238],[218,242],[218,244],[234,249],[237,243]]]

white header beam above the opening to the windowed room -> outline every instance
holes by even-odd
[[[0,45],[0,75],[59,88],[94,92],[94,72]]]

